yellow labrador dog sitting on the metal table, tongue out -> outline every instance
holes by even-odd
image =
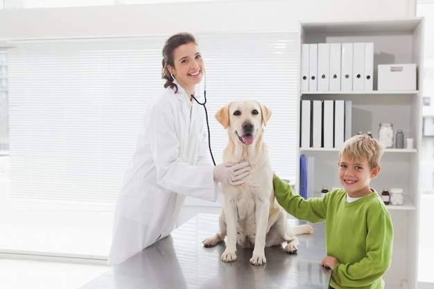
[[[221,259],[236,260],[236,245],[254,248],[250,263],[266,263],[265,247],[288,244],[286,252],[297,252],[297,234],[311,234],[309,225],[290,227],[286,213],[275,200],[272,168],[268,148],[263,141],[263,129],[271,111],[256,100],[236,100],[216,113],[216,119],[227,129],[229,141],[223,151],[223,161],[249,161],[250,175],[244,184],[223,185],[225,202],[219,218],[219,231],[203,241],[205,247],[225,240]]]

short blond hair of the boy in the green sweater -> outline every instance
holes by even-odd
[[[367,134],[356,134],[345,141],[339,151],[339,159],[342,155],[355,161],[367,161],[371,169],[379,166],[384,148],[379,141]]]

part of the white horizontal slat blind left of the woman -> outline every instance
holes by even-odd
[[[141,116],[163,89],[164,40],[10,51],[12,208],[113,209]]]

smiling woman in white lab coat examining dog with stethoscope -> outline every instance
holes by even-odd
[[[215,201],[217,182],[242,184],[250,166],[207,157],[204,110],[193,101],[205,73],[193,35],[178,33],[164,45],[165,91],[150,103],[116,203],[108,263],[121,263],[174,228],[185,196]]]

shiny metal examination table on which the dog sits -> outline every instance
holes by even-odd
[[[301,222],[290,219],[291,225]],[[266,265],[250,265],[252,249],[238,247],[237,260],[225,263],[225,243],[203,247],[216,234],[218,215],[200,213],[123,263],[80,289],[315,289],[328,288],[330,270],[320,263],[325,256],[324,223],[311,224],[313,234],[300,235],[297,254],[283,247],[266,248]]]

